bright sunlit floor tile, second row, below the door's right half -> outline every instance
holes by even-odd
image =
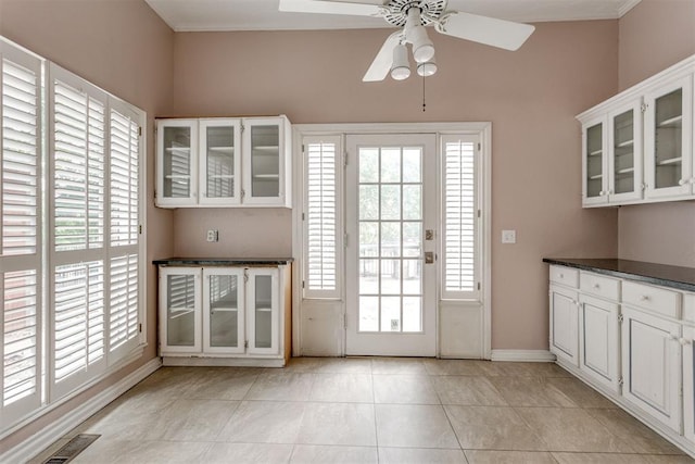
[[[372,377],[375,403],[440,404],[428,376],[374,375]]]

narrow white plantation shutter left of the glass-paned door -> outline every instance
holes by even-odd
[[[307,298],[338,298],[338,151],[340,137],[306,137],[306,263]]]

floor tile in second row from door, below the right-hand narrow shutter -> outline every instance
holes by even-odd
[[[442,404],[507,405],[507,402],[486,377],[432,376],[431,379]]]

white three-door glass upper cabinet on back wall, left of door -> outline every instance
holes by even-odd
[[[157,120],[156,205],[291,205],[285,116]]]

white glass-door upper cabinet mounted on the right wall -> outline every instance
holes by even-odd
[[[695,55],[577,116],[582,205],[695,198]]]

